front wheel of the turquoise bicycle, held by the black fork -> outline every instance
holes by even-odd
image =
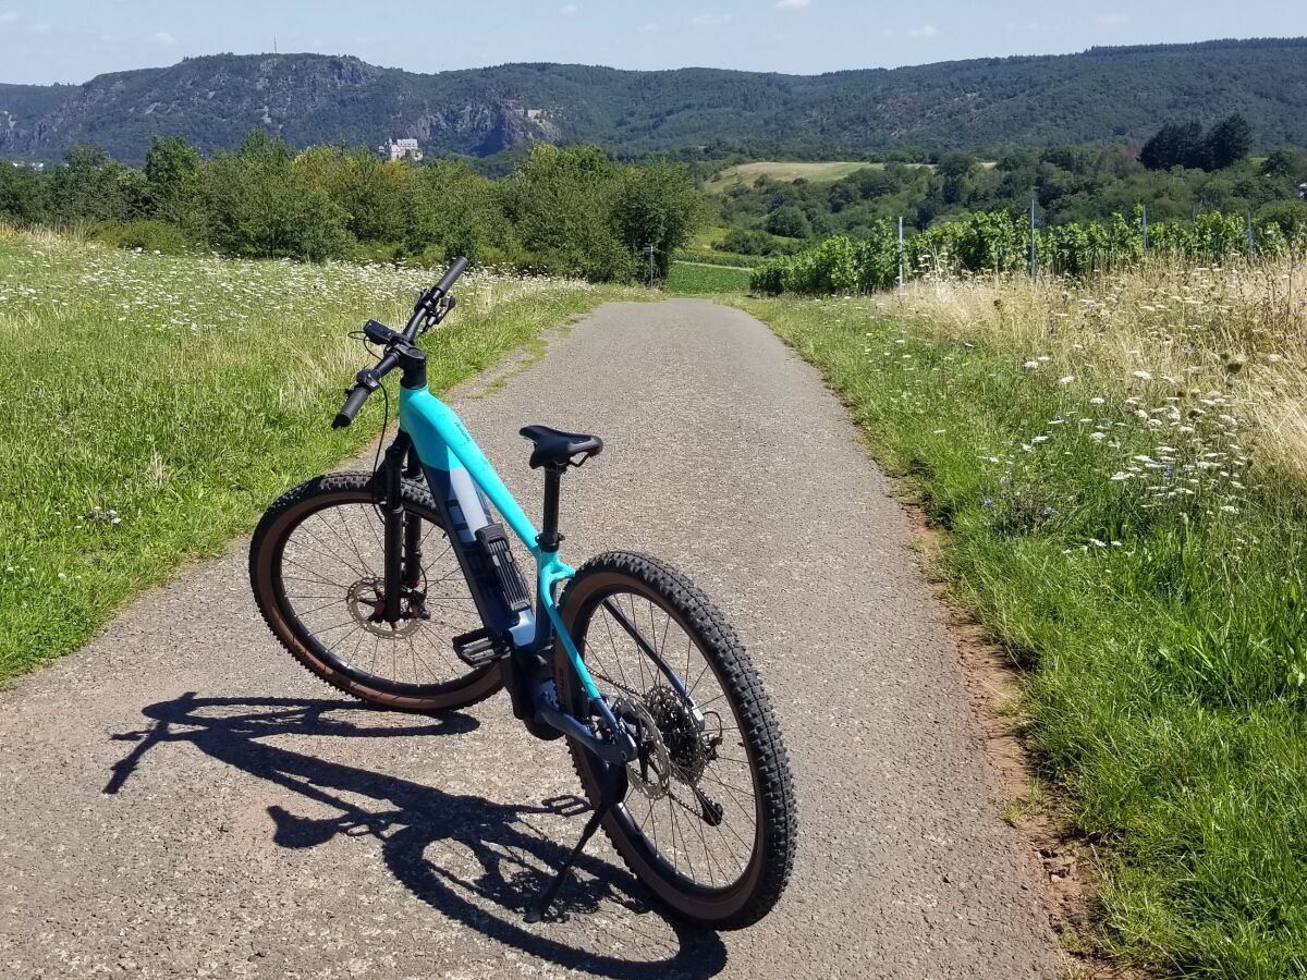
[[[250,544],[259,612],[308,670],[361,700],[444,711],[499,689],[494,665],[468,668],[454,638],[481,627],[426,487],[403,486],[405,520],[421,521],[417,585],[397,622],[383,615],[384,547],[371,473],[310,480],[281,497]]]

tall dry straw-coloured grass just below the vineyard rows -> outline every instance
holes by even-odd
[[[1033,371],[1148,387],[1154,396],[1161,382],[1175,388],[1176,404],[1218,392],[1252,423],[1263,457],[1307,483],[1302,261],[1158,263],[1084,284],[927,278],[868,302],[937,337],[1005,348]]]

